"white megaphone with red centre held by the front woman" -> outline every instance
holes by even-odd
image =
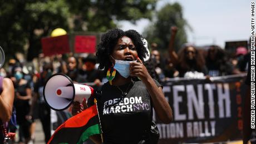
[[[43,87],[43,98],[55,111],[66,110],[73,101],[82,103],[83,98],[88,99],[92,94],[92,87],[75,84],[70,77],[62,73],[52,75]]]

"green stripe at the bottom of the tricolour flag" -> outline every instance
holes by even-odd
[[[78,144],[85,142],[91,135],[100,134],[99,124],[88,127],[81,135]]]

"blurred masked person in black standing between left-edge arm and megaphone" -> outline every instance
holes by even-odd
[[[14,67],[15,90],[16,100],[14,100],[14,106],[16,108],[17,123],[19,125],[19,131],[24,137],[24,142],[28,143],[31,140],[30,127],[33,122],[32,117],[28,117],[30,105],[29,101],[32,98],[31,86],[28,81],[23,78],[22,67]],[[21,136],[21,135],[19,135]],[[19,141],[23,141],[22,137],[19,137]]]

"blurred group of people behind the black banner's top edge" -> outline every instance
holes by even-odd
[[[164,82],[174,77],[206,78],[244,73],[248,69],[249,53],[247,48],[238,47],[232,54],[219,46],[208,46],[205,49],[184,44],[175,57],[163,57],[160,50],[151,44],[151,61],[145,62],[147,67],[153,66],[152,76]],[[154,75],[155,73],[155,75]]]

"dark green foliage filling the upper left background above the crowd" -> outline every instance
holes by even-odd
[[[27,0],[0,1],[0,46],[8,58],[42,52],[41,38],[60,27],[67,32],[105,32],[119,20],[151,18],[156,0]],[[28,51],[24,51],[24,48]]]

